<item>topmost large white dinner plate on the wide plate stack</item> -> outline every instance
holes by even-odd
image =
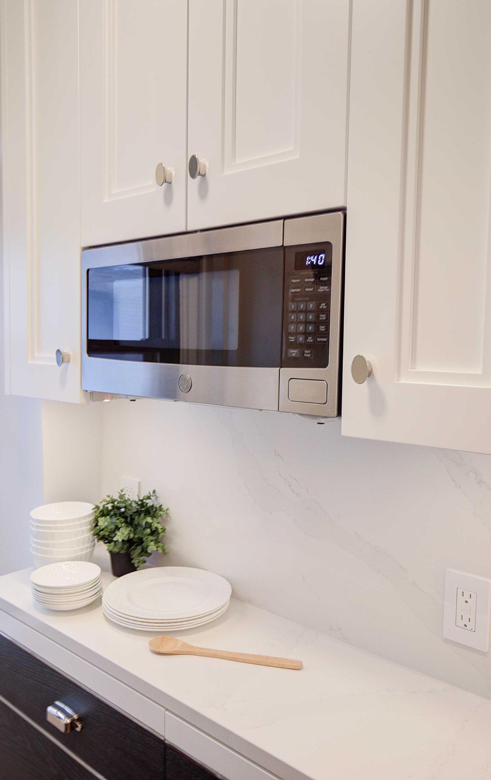
[[[104,591],[104,602],[133,618],[195,619],[231,597],[224,577],[187,566],[141,569],[120,577]]]

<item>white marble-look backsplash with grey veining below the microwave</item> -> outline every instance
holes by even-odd
[[[491,576],[491,456],[341,437],[287,414],[104,404],[101,493],[170,507],[170,564],[278,615],[491,697],[489,654],[441,636],[447,567]]]

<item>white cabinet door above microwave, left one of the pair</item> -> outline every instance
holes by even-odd
[[[79,13],[82,246],[183,231],[186,3],[83,0]]]

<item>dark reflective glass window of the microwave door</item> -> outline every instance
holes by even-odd
[[[283,248],[90,268],[87,353],[279,367]]]

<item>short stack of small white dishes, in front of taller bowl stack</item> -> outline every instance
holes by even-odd
[[[30,583],[34,601],[48,609],[87,607],[102,593],[100,567],[85,561],[41,566],[31,574]]]

